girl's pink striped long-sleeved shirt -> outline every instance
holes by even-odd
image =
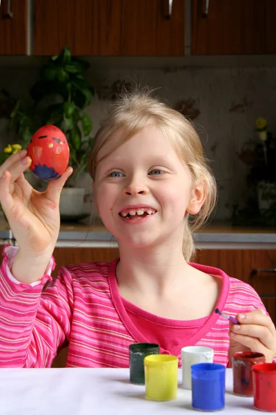
[[[150,341],[130,319],[119,295],[118,259],[61,267],[56,279],[50,277],[52,259],[43,279],[28,285],[10,273],[16,252],[6,246],[0,268],[0,367],[50,367],[68,343],[67,367],[128,367],[128,345]],[[191,265],[222,279],[217,303],[221,311],[236,315],[264,308],[248,284],[217,268]],[[181,366],[181,347],[208,346],[215,351],[214,361],[227,365],[228,327],[227,320],[212,313],[186,344],[175,344],[169,352]],[[161,353],[168,351],[161,348]]]

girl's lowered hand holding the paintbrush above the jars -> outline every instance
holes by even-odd
[[[236,315],[240,324],[230,322],[229,361],[235,351],[257,351],[272,362],[276,356],[276,330],[262,308]]]

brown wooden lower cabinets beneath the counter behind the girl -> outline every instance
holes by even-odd
[[[117,248],[56,248],[55,259],[57,269],[61,265],[86,261],[112,261],[119,256]],[[253,250],[253,249],[210,249],[197,250],[195,262],[208,266],[221,268],[230,277],[250,282],[276,323],[276,274],[257,273],[250,280],[250,273],[254,268],[275,269],[276,250]],[[263,297],[263,295],[265,295]],[[273,297],[275,295],[275,298]],[[68,348],[59,352],[52,367],[65,367]]]

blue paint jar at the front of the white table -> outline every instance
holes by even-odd
[[[192,406],[200,411],[224,408],[226,367],[218,363],[197,363],[192,371]]]

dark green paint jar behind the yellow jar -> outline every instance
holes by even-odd
[[[128,347],[130,358],[130,382],[145,385],[144,358],[148,355],[159,354],[159,344],[133,343]]]

